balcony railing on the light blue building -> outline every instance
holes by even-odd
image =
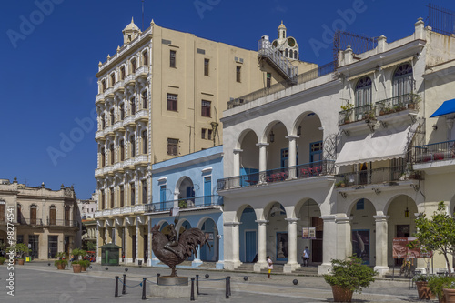
[[[170,200],[163,202],[155,202],[146,204],[146,211],[148,212],[159,212],[168,211],[171,208],[179,207],[180,209],[197,208],[197,207],[212,207],[223,205],[223,197],[213,196],[202,196],[202,197],[184,197],[178,200]]]

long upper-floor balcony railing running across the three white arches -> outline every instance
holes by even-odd
[[[327,176],[332,175],[334,172],[335,161],[322,160],[301,164],[295,167],[282,167],[248,175],[219,179],[217,181],[217,189],[224,190],[238,187],[251,187],[292,179]]]

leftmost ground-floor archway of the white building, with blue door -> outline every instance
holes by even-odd
[[[253,263],[258,259],[258,223],[253,207],[247,206],[240,216],[239,258],[243,263]]]

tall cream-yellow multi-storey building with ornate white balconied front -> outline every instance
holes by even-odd
[[[278,38],[286,35],[283,27]],[[221,144],[219,118],[229,100],[288,86],[297,71],[315,65],[289,60],[267,36],[259,40],[270,46],[259,45],[261,56],[153,20],[144,32],[131,21],[123,37],[96,74],[96,220],[98,247],[115,243],[123,248],[121,261],[138,263],[151,253],[144,216],[151,164]]]

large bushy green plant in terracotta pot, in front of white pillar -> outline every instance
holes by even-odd
[[[332,287],[335,302],[350,302],[354,291],[361,293],[362,288],[367,288],[374,282],[378,274],[373,268],[364,265],[360,258],[332,259],[332,268],[324,279]]]

